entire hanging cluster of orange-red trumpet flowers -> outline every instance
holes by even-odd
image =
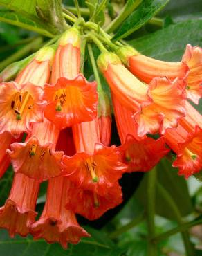
[[[11,237],[30,233],[64,248],[77,244],[89,234],[75,214],[98,219],[119,205],[122,174],[148,172],[170,149],[179,174],[201,170],[201,115],[187,101],[201,98],[201,48],[188,45],[178,63],[128,46],[98,57],[111,89],[121,142],[116,147],[108,95],[80,73],[81,44],[79,30],[70,28],[57,48],[42,48],[15,81],[0,84],[0,176],[10,162],[15,172],[0,228]],[[43,181],[46,203],[36,221]]]

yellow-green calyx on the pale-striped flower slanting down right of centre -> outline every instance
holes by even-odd
[[[101,71],[106,71],[109,64],[121,64],[119,57],[115,53],[101,53],[97,60]]]

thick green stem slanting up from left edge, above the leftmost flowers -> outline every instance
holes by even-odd
[[[20,60],[22,57],[30,53],[30,51],[35,51],[39,48],[39,46],[42,45],[42,37],[37,37],[36,39],[33,40],[33,42],[30,42],[30,44],[27,44],[23,48],[19,49],[16,53],[13,53],[10,55],[10,57],[6,58],[3,60],[0,64],[0,71],[3,68],[6,68],[9,64],[12,62],[16,62],[17,60]]]

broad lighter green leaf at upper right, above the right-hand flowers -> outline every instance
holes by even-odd
[[[184,21],[128,43],[144,55],[158,60],[178,62],[186,44],[202,45],[202,21]]]

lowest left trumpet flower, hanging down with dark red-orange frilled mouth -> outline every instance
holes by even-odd
[[[10,237],[19,234],[26,237],[35,221],[35,205],[39,182],[24,174],[15,174],[10,196],[0,208],[0,228],[8,229]]]

